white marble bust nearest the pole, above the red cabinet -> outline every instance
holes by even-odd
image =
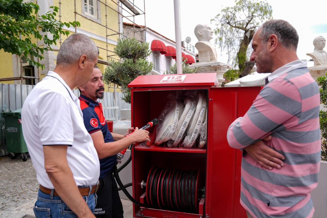
[[[216,49],[209,42],[213,39],[211,27],[208,25],[198,24],[194,28],[194,34],[198,38],[195,47],[199,52],[199,62],[217,60]]]

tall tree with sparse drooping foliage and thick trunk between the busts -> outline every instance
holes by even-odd
[[[249,61],[249,44],[256,29],[272,19],[271,6],[259,0],[235,0],[233,7],[226,7],[211,19],[215,25],[215,44],[227,50],[228,61],[238,66],[241,76],[248,75],[254,66]]]

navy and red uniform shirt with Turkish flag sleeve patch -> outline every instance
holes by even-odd
[[[79,96],[80,107],[83,112],[84,125],[86,130],[92,134],[101,131],[104,142],[113,142],[111,133],[108,130],[107,122],[102,112],[102,105],[95,102],[84,95]],[[100,178],[110,173],[116,164],[116,155],[100,159]]]

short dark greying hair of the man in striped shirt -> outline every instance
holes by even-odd
[[[260,36],[263,42],[267,42],[269,37],[275,34],[278,41],[285,47],[293,47],[296,51],[299,43],[299,35],[296,29],[284,20],[270,20],[262,25]]]

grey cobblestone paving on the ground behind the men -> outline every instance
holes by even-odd
[[[0,218],[22,218],[32,215],[39,184],[28,156],[23,162],[20,156],[11,160],[9,156],[0,157]],[[122,199],[124,217],[131,218],[133,206],[129,200]]]

